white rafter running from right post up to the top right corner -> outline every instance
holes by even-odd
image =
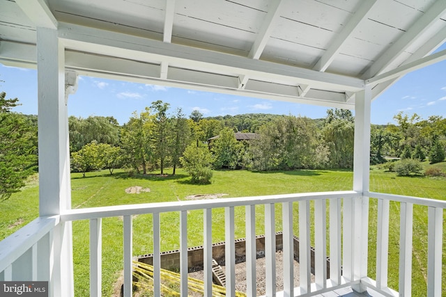
[[[446,1],[438,0],[427,10],[420,19],[415,22],[406,33],[401,35],[389,49],[371,65],[371,67],[362,76],[363,79],[372,77],[385,72],[386,67],[399,57],[417,38],[427,31],[435,22],[446,13]]]

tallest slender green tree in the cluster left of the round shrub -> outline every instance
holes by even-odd
[[[164,174],[164,163],[169,156],[171,146],[170,122],[167,118],[169,103],[161,100],[152,102],[152,109],[155,111],[153,121],[153,149],[155,158],[160,161],[160,174]]]

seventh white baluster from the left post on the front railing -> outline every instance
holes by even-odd
[[[256,296],[256,206],[245,207],[246,222],[246,294]]]

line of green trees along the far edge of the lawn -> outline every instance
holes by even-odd
[[[36,172],[37,117],[12,109],[18,99],[0,93],[0,199],[23,186]],[[371,163],[385,156],[402,159],[445,159],[446,119],[398,113],[396,125],[371,126]],[[245,114],[204,118],[199,111],[171,113],[168,103],[152,102],[132,113],[124,125],[113,117],[68,119],[72,171],[127,168],[146,174],[182,166],[194,182],[206,182],[213,169],[295,170],[352,168],[354,118],[351,111],[330,109],[325,118]],[[256,133],[236,141],[234,132]],[[208,147],[213,136],[220,137]]]

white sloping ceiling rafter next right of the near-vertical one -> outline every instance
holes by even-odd
[[[259,33],[257,33],[257,38],[254,40],[251,51],[249,51],[249,58],[259,59],[263,49],[266,47],[266,43],[270,38],[271,32],[277,23],[277,19],[280,17],[280,4],[281,0],[269,1],[270,9],[266,14],[265,19],[262,22]]]

